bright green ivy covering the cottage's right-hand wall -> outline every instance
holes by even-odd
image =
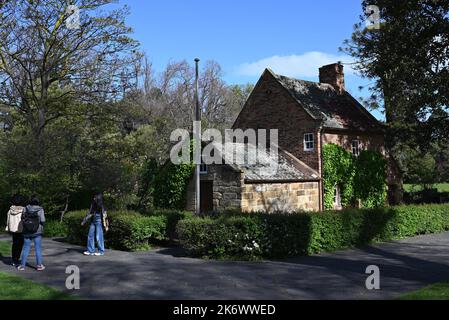
[[[324,206],[334,207],[334,190],[340,188],[341,205],[382,206],[386,199],[386,161],[376,151],[362,151],[359,157],[336,144],[323,148]]]

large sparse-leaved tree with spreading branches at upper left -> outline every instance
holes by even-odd
[[[10,0],[0,7],[0,105],[25,119],[37,145],[52,122],[79,101],[96,104],[123,93],[138,58],[112,0]],[[38,148],[39,164],[45,159]]]

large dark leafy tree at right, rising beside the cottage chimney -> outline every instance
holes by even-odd
[[[367,28],[376,7],[378,27]],[[356,59],[355,69],[373,80],[368,102],[385,113],[394,166],[404,144],[425,154],[431,142],[447,137],[449,1],[365,0],[362,8],[365,14],[343,50]],[[400,176],[399,171],[399,182]]]

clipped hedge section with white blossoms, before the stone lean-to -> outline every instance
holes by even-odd
[[[305,214],[227,213],[182,220],[178,234],[183,246],[194,255],[256,260],[304,254],[309,220]]]

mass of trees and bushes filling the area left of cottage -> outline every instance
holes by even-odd
[[[128,9],[88,2],[71,2],[83,7],[73,30],[67,1],[0,5],[1,216],[15,193],[38,194],[55,220],[88,207],[95,191],[109,210],[148,210],[155,196],[180,207],[185,168],[164,167],[155,179],[170,133],[191,130],[195,70],[173,61],[156,72],[131,38]],[[227,85],[214,61],[199,77],[204,127],[229,128],[252,86]]]

